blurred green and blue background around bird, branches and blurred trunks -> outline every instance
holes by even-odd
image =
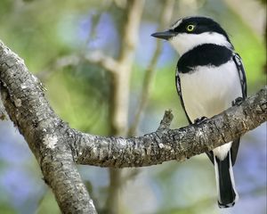
[[[158,28],[164,2],[147,0],[144,4],[129,85],[129,127],[156,48],[156,39],[150,34]],[[188,15],[205,15],[220,22],[243,59],[248,95],[253,95],[266,85],[265,7],[264,0],[177,0],[168,25]],[[125,0],[0,1],[0,39],[42,80],[54,111],[72,128],[95,135],[111,133],[112,79],[107,70],[86,62],[84,56],[101,51],[117,58],[125,11]],[[162,43],[135,135],[157,129],[166,109],[174,112],[172,128],[187,125],[174,86],[179,56]],[[69,54],[78,56],[79,62],[55,66]],[[79,166],[79,170],[103,213],[109,197],[109,169]],[[118,213],[266,213],[266,123],[242,137],[234,173],[239,202],[232,209],[219,210],[213,165],[204,154],[134,173],[124,169],[122,175],[127,179],[119,190]],[[0,120],[0,213],[60,213],[28,144],[8,119]]]

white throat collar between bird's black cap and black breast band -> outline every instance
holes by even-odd
[[[181,33],[169,39],[169,42],[180,55],[203,44],[223,45],[232,49],[232,45],[227,41],[226,37],[216,32],[205,32],[201,34]]]

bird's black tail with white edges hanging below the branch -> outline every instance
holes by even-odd
[[[231,164],[231,152],[221,161],[214,155],[214,168],[220,208],[232,207],[239,199],[235,190],[235,182]]]

